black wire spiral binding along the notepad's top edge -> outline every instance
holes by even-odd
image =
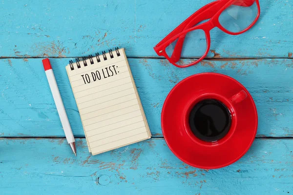
[[[116,51],[116,55],[117,55],[117,57],[121,56],[118,47],[115,47],[115,51]],[[112,51],[112,49],[109,49],[109,54],[110,54],[110,58],[111,58],[111,59],[114,58],[114,55],[113,55],[113,51]],[[103,59],[104,59],[104,61],[107,60],[106,52],[105,52],[105,51],[102,51],[102,55],[103,55]],[[96,57],[96,59],[97,59],[98,62],[101,62],[101,59],[100,59],[99,56],[100,56],[100,55],[99,55],[99,53],[97,52],[97,53],[95,54],[95,57]],[[89,59],[89,61],[90,61],[90,64],[94,64],[94,60],[93,60],[93,58],[94,58],[93,55],[88,55],[88,59]],[[85,57],[82,57],[82,59],[83,59],[83,64],[84,64],[84,66],[87,66],[86,58],[85,58]],[[74,62],[73,62],[72,60],[69,60],[69,66],[70,66],[70,69],[71,69],[71,70],[74,70],[73,63],[74,63]],[[75,59],[75,63],[76,63],[76,65],[77,65],[77,68],[81,68],[81,61],[80,61],[79,58],[76,58],[76,59]]]

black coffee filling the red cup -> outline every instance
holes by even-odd
[[[221,101],[205,99],[192,108],[189,126],[196,137],[204,141],[216,141],[229,132],[231,114]]]

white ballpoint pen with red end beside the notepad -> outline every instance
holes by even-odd
[[[44,69],[45,69],[45,73],[46,73],[46,76],[47,76],[47,79],[49,82],[49,86],[50,86],[55,104],[56,104],[58,115],[61,120],[61,124],[62,124],[63,130],[64,130],[64,133],[65,133],[65,137],[66,137],[67,142],[70,145],[73,153],[76,156],[75,139],[74,139],[74,136],[73,136],[70,124],[69,124],[68,117],[65,112],[63,101],[62,101],[62,98],[61,98],[61,95],[60,95],[60,92],[59,92],[59,89],[58,89],[58,86],[56,83],[56,79],[55,79],[55,76],[54,76],[54,73],[53,73],[53,70],[51,67],[50,60],[43,59],[42,63],[43,63]]]

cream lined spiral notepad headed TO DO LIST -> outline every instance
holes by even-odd
[[[66,71],[92,155],[151,137],[124,49],[70,60]]]

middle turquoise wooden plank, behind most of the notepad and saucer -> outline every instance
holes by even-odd
[[[51,63],[73,132],[84,137],[65,71],[68,60],[51,59]],[[129,59],[129,64],[153,136],[162,136],[161,110],[172,87],[202,72],[226,74],[247,87],[258,109],[258,137],[293,136],[291,59],[202,61],[186,69],[176,68],[164,59]],[[41,59],[0,59],[0,75],[1,137],[63,137]]]

